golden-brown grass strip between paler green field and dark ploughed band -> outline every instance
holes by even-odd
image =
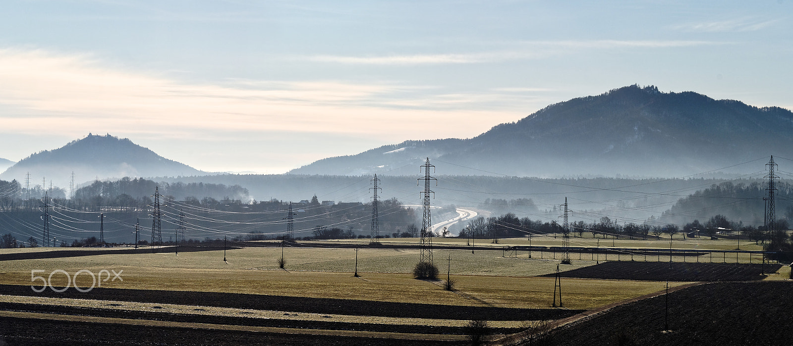
[[[75,270],[70,270],[75,272]],[[258,272],[259,275],[244,275]],[[239,279],[242,277],[242,279]],[[296,298],[335,298],[376,304],[422,303],[442,306],[547,309],[554,291],[552,277],[453,276],[459,295],[444,291],[435,283],[412,279],[407,274],[364,274],[359,279],[348,273],[199,271],[160,269],[126,275],[123,283],[109,289],[125,288],[151,291],[193,291],[271,295]],[[52,281],[56,281],[53,277]],[[0,283],[26,287],[30,291],[30,272],[0,275]],[[53,282],[56,287],[63,282]],[[90,287],[90,277],[80,277],[81,287]],[[565,279],[562,283],[570,309],[586,310],[625,298],[660,291],[664,283],[654,281]],[[36,285],[39,286],[39,285]],[[103,288],[105,285],[102,286]],[[32,291],[31,291],[32,292]],[[93,291],[91,292],[93,294]],[[21,294],[27,295],[27,294]],[[164,300],[163,302],[168,302]],[[328,311],[330,312],[330,311]]]

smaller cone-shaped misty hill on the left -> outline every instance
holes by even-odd
[[[31,183],[55,181],[66,186],[71,173],[80,181],[94,178],[163,177],[205,175],[189,165],[163,158],[155,152],[112,135],[88,135],[56,150],[32,154],[0,174],[0,179],[23,181],[30,173]]]

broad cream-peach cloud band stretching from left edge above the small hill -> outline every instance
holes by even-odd
[[[3,132],[68,133],[86,128],[184,135],[203,131],[323,132],[365,134],[371,125],[408,137],[426,123],[445,137],[477,135],[481,128],[519,119],[518,110],[436,101],[406,111],[389,100],[410,98],[408,87],[346,82],[233,80],[190,84],[106,67],[91,55],[0,50],[0,115]],[[440,107],[446,104],[446,108]],[[13,114],[13,115],[11,115]],[[465,124],[454,121],[464,117]],[[399,134],[403,135],[399,135]],[[198,137],[198,135],[196,135]]]

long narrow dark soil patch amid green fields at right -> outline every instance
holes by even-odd
[[[605,262],[561,272],[566,278],[628,279],[643,281],[749,281],[761,280],[781,264],[715,264],[680,262]],[[547,274],[544,276],[555,276]]]

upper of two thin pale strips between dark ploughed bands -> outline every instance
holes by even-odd
[[[155,302],[126,302],[82,298],[49,298],[20,295],[0,295],[0,302],[16,302],[51,306],[81,306],[109,310],[157,311],[170,314],[200,314],[211,316],[270,318],[296,321],[326,321],[347,323],[377,323],[385,325],[435,325],[462,327],[467,321],[432,318],[358,316],[341,314],[296,313],[292,311],[237,309],[218,306],[192,306]],[[522,321],[491,321],[496,328],[518,328]]]

